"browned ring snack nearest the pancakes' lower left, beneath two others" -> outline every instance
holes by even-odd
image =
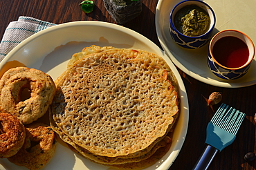
[[[55,133],[51,126],[42,123],[26,125],[26,140],[10,162],[30,170],[42,169],[55,153]]]

